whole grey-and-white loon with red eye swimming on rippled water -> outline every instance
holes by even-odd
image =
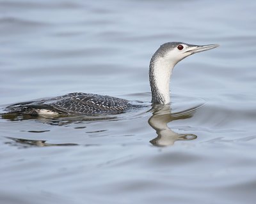
[[[181,42],[164,43],[151,58],[149,81],[153,105],[170,104],[170,77],[174,66],[189,55],[216,48],[219,45],[189,45]],[[126,99],[98,94],[74,92],[55,98],[15,103],[7,106],[8,113],[24,115],[102,115],[118,114],[131,108]]]

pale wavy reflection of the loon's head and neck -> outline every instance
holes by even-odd
[[[190,108],[189,110],[185,110],[182,112],[172,113],[170,105],[155,105],[152,108],[152,116],[148,120],[148,124],[154,129],[156,129],[157,137],[153,140],[150,140],[152,145],[157,147],[164,147],[173,145],[177,140],[194,140],[197,138],[196,135],[193,134],[179,134],[175,133],[170,129],[167,124],[172,120],[179,119],[188,119],[193,116],[196,109],[200,106],[196,106],[195,108]]]

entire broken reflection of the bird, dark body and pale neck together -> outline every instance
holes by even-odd
[[[179,119],[188,119],[193,116],[198,108],[202,105],[195,106],[193,108],[189,108],[188,110],[184,110],[181,112],[172,112],[170,105],[154,105],[150,112],[152,112],[152,116],[148,119],[148,124],[152,128],[156,130],[157,137],[153,140],[150,140],[152,145],[163,147],[173,145],[177,140],[194,140],[197,138],[196,135],[193,134],[180,134],[175,133],[168,127],[168,123],[172,120]],[[68,126],[68,124],[83,124],[84,122],[92,122],[99,120],[118,120],[116,116],[104,116],[104,117],[57,117],[57,118],[44,118],[44,117],[32,117],[30,115],[12,115],[12,114],[4,114],[1,115],[3,119],[8,119],[11,121],[15,120],[26,120],[26,119],[40,119],[41,122],[46,124],[50,124],[53,126]],[[84,128],[84,127],[83,127]],[[45,140],[26,140],[22,138],[10,138],[14,143],[19,143],[22,145],[26,145],[26,147],[31,146],[68,146],[68,145],[77,145],[76,143],[60,143],[60,144],[52,144],[47,143]]]

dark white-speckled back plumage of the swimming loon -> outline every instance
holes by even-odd
[[[6,107],[12,113],[39,115],[40,110],[49,110],[61,115],[118,114],[132,106],[127,100],[111,96],[75,92],[56,98],[17,103]]]

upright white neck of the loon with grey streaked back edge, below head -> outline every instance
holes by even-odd
[[[153,104],[170,103],[170,77],[175,64],[162,57],[152,57],[149,66],[149,79]]]

